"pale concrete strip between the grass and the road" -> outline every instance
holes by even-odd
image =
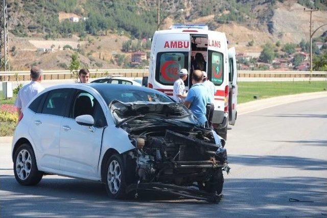
[[[306,101],[306,100],[318,99],[318,98],[327,98],[327,91],[290,94],[290,95],[277,96],[268,99],[251,101],[238,105],[237,111],[238,111],[238,115],[242,115],[257,110],[275,107],[278,105],[284,105],[288,103],[300,102],[300,101]]]

